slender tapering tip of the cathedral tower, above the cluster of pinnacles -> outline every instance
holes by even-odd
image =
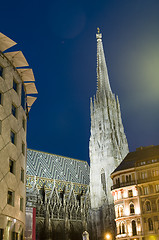
[[[109,77],[108,77],[108,70],[105,61],[103,43],[102,43],[102,34],[100,33],[100,29],[97,28],[97,88],[98,92],[106,92],[112,93]]]

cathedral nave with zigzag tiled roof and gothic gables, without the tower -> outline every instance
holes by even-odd
[[[36,220],[36,239],[80,240],[88,229],[88,163],[28,150],[26,204],[26,239],[33,239]]]

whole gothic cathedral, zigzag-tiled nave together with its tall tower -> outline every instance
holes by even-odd
[[[97,91],[90,100],[90,166],[27,150],[26,239],[91,240],[115,235],[110,174],[128,153],[118,97],[112,93],[98,29]]]

